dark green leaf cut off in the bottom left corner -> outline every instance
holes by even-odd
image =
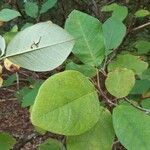
[[[10,150],[15,145],[16,140],[8,133],[0,133],[0,150]]]

